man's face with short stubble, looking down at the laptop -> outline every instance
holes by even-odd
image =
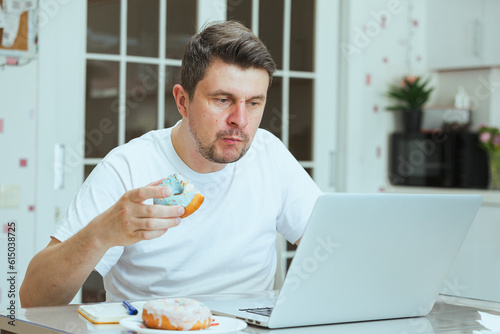
[[[247,152],[262,119],[268,85],[266,70],[212,62],[187,104],[189,131],[205,159],[226,164]]]

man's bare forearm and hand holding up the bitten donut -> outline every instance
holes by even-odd
[[[182,206],[143,203],[170,196],[159,183],[126,192],[68,240],[53,238],[28,266],[19,290],[22,307],[69,303],[109,248],[157,238],[178,225]]]

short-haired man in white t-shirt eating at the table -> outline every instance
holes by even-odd
[[[274,71],[239,23],[193,36],[173,89],[182,121],[94,169],[31,261],[22,306],[69,303],[94,269],[108,301],[271,289],[276,231],[298,243],[320,194],[283,144],[258,130]],[[159,180],[177,172],[205,196],[182,220],[182,207],[152,205],[171,195]]]

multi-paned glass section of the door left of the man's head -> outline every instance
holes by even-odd
[[[170,127],[196,0],[88,0],[85,177],[114,147]],[[182,13],[182,15],[179,15]]]

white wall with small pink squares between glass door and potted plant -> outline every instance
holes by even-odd
[[[340,189],[384,191],[388,135],[398,129],[384,93],[403,75],[425,74],[425,2],[350,0],[342,11]]]

